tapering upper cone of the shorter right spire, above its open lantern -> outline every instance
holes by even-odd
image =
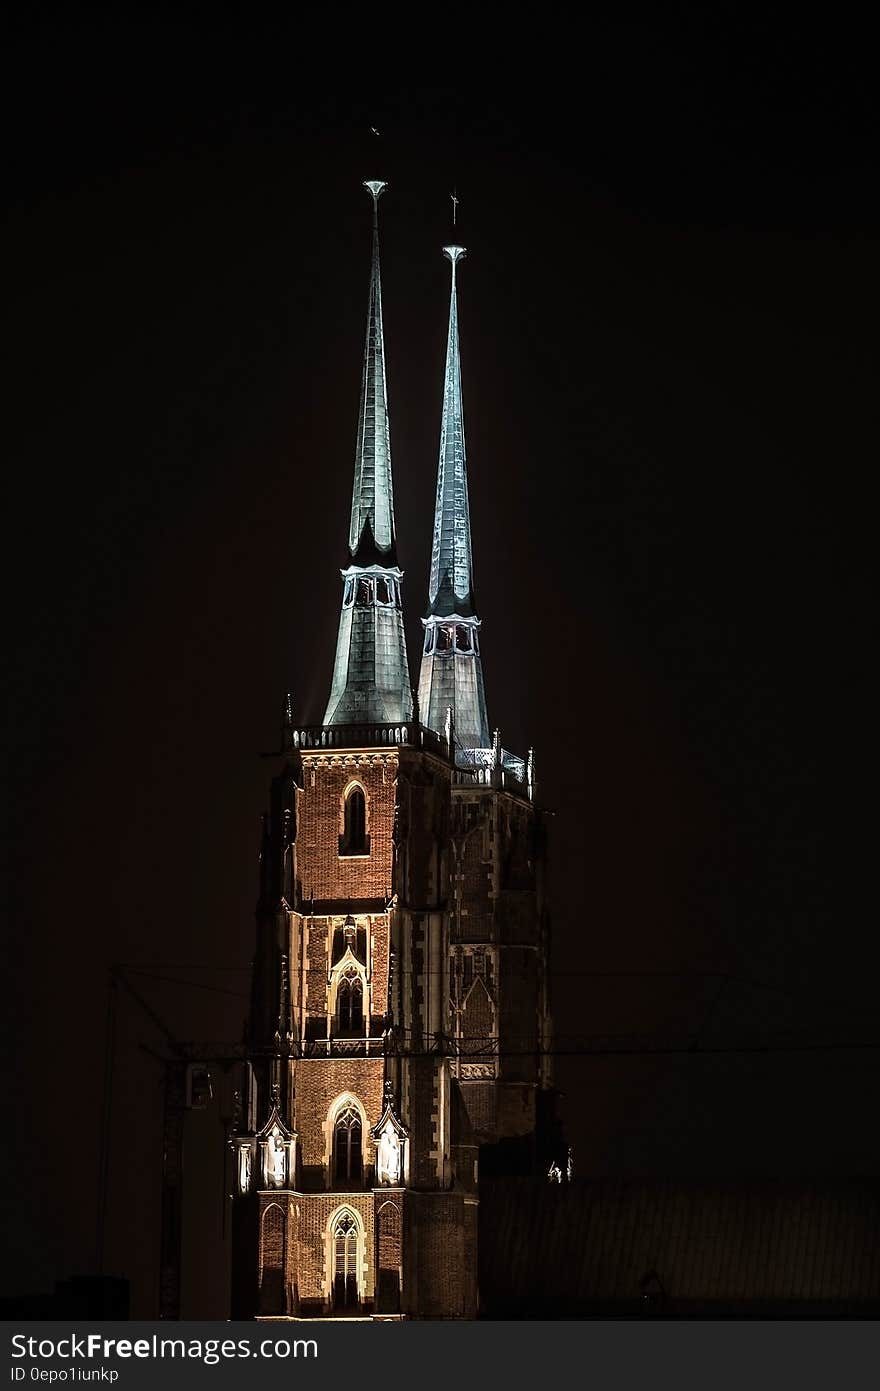
[[[443,256],[452,263],[452,288],[428,601],[431,613],[467,616],[473,613],[474,595],[456,292],[456,268],[464,248],[443,246]]]

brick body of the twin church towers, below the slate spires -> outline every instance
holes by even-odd
[[[528,1134],[544,1081],[534,810],[405,746],[293,755],[275,804],[234,1314],[475,1317],[478,1145]]]

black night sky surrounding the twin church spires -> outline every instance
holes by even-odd
[[[373,177],[413,666],[455,186],[489,718],[555,812],[557,1038],[645,1049],[560,1059],[578,1171],[877,1173],[866,36],[412,24],[10,36],[8,1291],[92,1269],[108,965],[190,982],[131,976],[177,1036],[241,1034],[259,754],[329,686]],[[129,1002],[107,1263],[149,1313],[142,1043]],[[190,1121],[210,1313],[222,1131]]]

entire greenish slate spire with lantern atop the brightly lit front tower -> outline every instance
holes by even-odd
[[[349,565],[342,570],[342,612],[325,725],[396,723],[412,719],[413,714],[385,387],[378,232],[378,200],[385,184],[368,179],[364,188],[373,198],[367,342],[357,417]]]

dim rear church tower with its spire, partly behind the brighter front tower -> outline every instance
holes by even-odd
[[[484,1171],[534,1168],[551,1117],[548,918],[535,765],[489,736],[471,558],[457,268],[452,267],[418,704],[453,748],[449,1032]],[[505,1142],[499,1149],[485,1146]]]

